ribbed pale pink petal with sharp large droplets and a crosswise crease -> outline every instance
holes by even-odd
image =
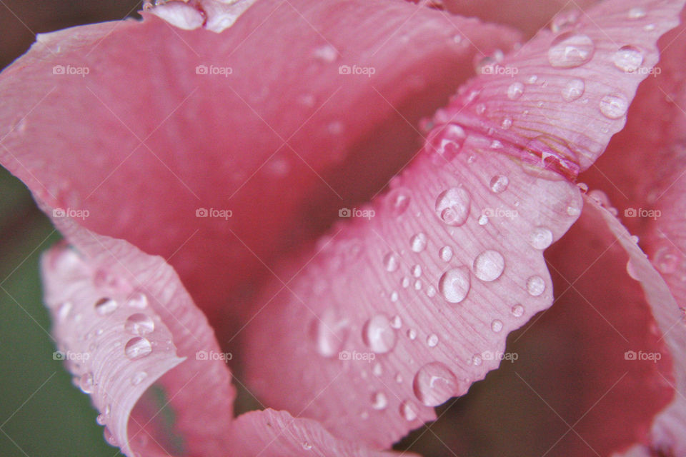
[[[605,95],[621,86],[628,105],[643,77],[616,67],[617,43],[640,46],[643,63],[654,64],[654,42],[682,6],[651,5],[633,2],[650,12],[630,19],[624,3],[608,1],[558,34],[577,37],[577,46],[592,37],[592,59],[575,68],[556,61],[575,49],[561,57],[553,46],[551,64],[556,38],[542,31],[493,74],[470,81],[434,117],[428,154],[389,194],[277,270],[244,342],[250,386],[269,406],[384,447],[498,366],[507,333],[552,303],[542,249],[580,212],[578,190],[560,174],[592,164],[623,126],[625,110]],[[628,41],[627,24],[644,21],[654,26]],[[577,77],[585,96],[566,101],[562,91]],[[443,246],[453,251],[447,262]]]

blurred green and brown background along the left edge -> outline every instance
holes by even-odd
[[[0,68],[24,54],[37,33],[136,16],[140,7],[131,0],[0,0]],[[89,397],[52,358],[38,262],[58,239],[24,184],[0,169],[2,457],[121,455],[105,443]]]

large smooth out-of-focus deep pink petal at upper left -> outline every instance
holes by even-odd
[[[41,35],[0,76],[0,161],[52,206],[89,211],[88,229],[170,258],[226,318],[271,276],[258,257],[269,265],[382,189],[477,49],[518,37],[363,0],[260,1],[221,34],[149,17]]]

